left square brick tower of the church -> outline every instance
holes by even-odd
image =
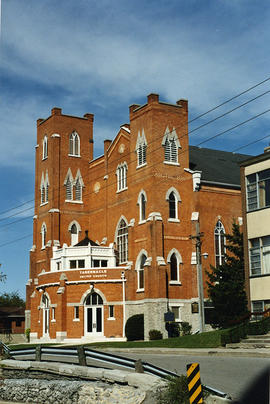
[[[74,245],[83,235],[88,210],[88,165],[93,159],[93,114],[82,118],[53,108],[47,119],[37,120],[35,214],[27,302],[37,274],[48,271],[53,246]],[[30,327],[30,307],[26,308]]]

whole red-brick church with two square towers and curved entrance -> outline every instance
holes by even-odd
[[[193,236],[204,234],[203,269],[222,262],[224,234],[242,216],[246,156],[190,146],[186,100],[150,94],[129,114],[95,159],[92,114],[53,108],[37,121],[32,341],[125,339],[127,319],[140,313],[145,339],[151,329],[166,337],[168,310],[199,329]]]

